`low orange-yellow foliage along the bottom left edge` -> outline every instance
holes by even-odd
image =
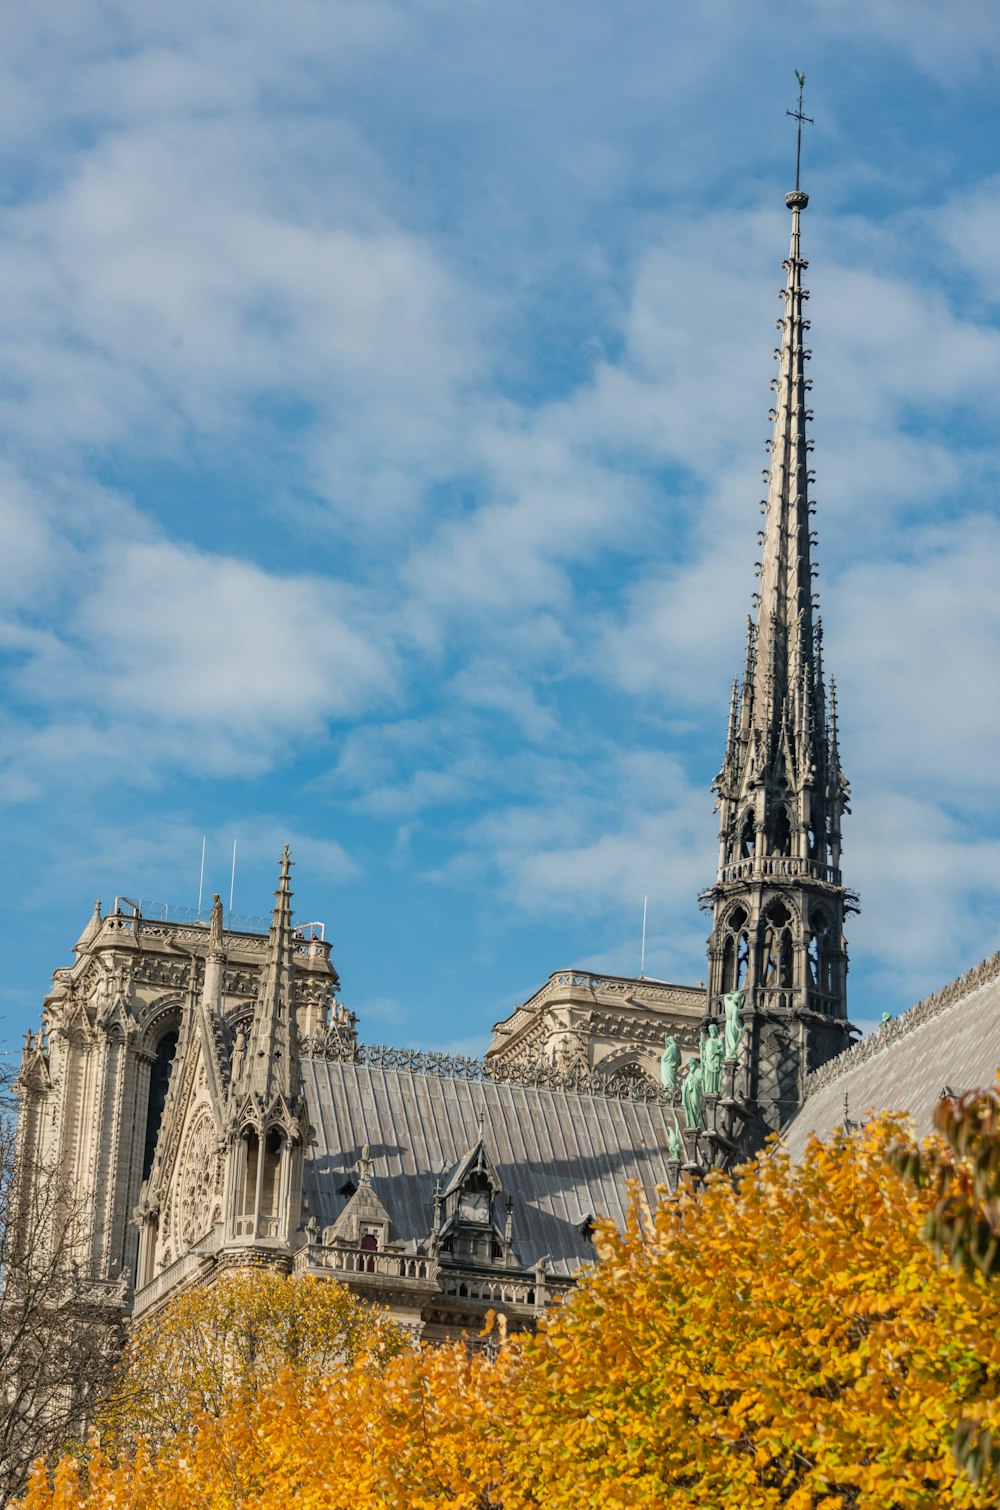
[[[285,1368],[221,1415],[198,1409],[159,1453],[82,1468],[39,1465],[23,1510],[502,1510],[515,1351],[494,1361],[462,1344],[372,1356],[316,1379]]]

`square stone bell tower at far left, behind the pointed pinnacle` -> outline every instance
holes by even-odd
[[[74,947],[76,962],[54,972],[41,1028],[24,1046],[21,1157],[59,1169],[85,1205],[89,1240],[82,1259],[98,1280],[124,1277],[131,1285],[139,1256],[133,1213],[154,1154],[160,1170],[181,1158],[202,1173],[189,1175],[177,1193],[162,1223],[159,1258],[150,1253],[147,1268],[166,1252],[175,1256],[192,1223],[210,1216],[221,1197],[218,1161],[208,1170],[202,1160],[211,1142],[207,1113],[227,1034],[254,1015],[267,939],[227,933],[222,957],[210,957],[210,935],[207,926],[122,912],[101,917],[95,906]],[[293,948],[295,1010],[308,1033],[337,1012],[338,980],[322,939],[296,939]],[[215,1003],[208,1034],[199,1018],[205,992]],[[202,1051],[198,1065],[186,1052],[192,1042]]]

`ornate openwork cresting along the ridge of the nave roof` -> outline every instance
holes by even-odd
[[[441,1080],[529,1086],[536,1090],[562,1090],[579,1096],[607,1096],[613,1101],[644,1101],[656,1105],[669,1099],[653,1080],[639,1080],[631,1075],[603,1075],[585,1065],[563,1071],[538,1062],[511,1063],[502,1059],[474,1059],[471,1054],[435,1054],[415,1048],[391,1048],[387,1043],[353,1043],[340,1030],[323,1030],[304,1037],[301,1051],[310,1059],[363,1065],[369,1069],[437,1075]]]

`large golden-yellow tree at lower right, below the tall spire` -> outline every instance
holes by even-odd
[[[899,1128],[778,1152],[628,1229],[527,1344],[509,1505],[992,1505],[950,1454],[1000,1291],[921,1238]]]

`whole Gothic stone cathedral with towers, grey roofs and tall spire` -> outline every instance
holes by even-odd
[[[760,592],[715,779],[704,986],[556,971],[482,1059],[366,1043],[331,947],[100,903],[54,972],[18,1077],[21,1170],[82,1206],[94,1293],[150,1317],[234,1265],[337,1279],[415,1336],[527,1327],[594,1258],[598,1217],[730,1169],[778,1132],[879,1107],[929,1125],[1000,1065],[1000,956],[856,1042],[841,876],[849,785],[813,595],[808,320],[787,195]],[[705,856],[708,861],[708,856]],[[708,867],[707,867],[708,868]]]

